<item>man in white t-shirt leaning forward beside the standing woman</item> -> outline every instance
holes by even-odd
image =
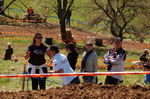
[[[69,64],[67,57],[59,53],[59,48],[56,45],[52,45],[49,48],[49,56],[53,58],[53,73],[75,73]],[[63,76],[60,78],[64,86],[80,83],[78,76]]]

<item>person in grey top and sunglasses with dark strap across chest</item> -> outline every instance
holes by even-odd
[[[83,53],[81,62],[81,72],[97,72],[97,54],[94,50],[93,43],[88,41],[86,43],[86,51]],[[84,82],[97,83],[97,76],[83,76]]]

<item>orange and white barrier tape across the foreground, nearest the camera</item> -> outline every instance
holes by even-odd
[[[150,74],[150,71],[137,72],[95,72],[95,73],[47,73],[47,74],[6,74],[0,78],[24,78],[24,77],[61,77],[61,76],[96,76],[96,75],[141,75]]]

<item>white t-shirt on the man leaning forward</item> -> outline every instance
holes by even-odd
[[[54,70],[58,71],[60,69],[64,70],[64,73],[75,73],[71,68],[67,57],[63,54],[56,54],[53,60]],[[62,82],[64,85],[68,85],[76,76],[62,76]]]

